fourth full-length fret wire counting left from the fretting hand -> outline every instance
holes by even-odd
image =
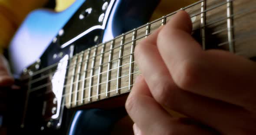
[[[104,58],[104,54],[103,52],[105,51],[105,44],[102,45],[102,50],[101,50],[101,56],[100,56],[100,60],[99,60],[99,67],[98,67],[98,81],[97,81],[97,100],[99,100],[99,93],[100,93],[100,83],[101,83],[101,79],[102,79],[102,63],[103,63],[103,58]]]

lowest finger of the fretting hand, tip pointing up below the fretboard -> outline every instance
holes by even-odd
[[[212,131],[200,128],[194,123],[171,116],[151,97],[143,77],[137,79],[132,88],[126,109],[134,125],[135,135],[211,135]]]

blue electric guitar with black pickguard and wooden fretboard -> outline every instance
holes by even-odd
[[[102,0],[95,4],[78,0],[65,11],[72,17],[66,24],[60,21],[65,24],[63,28],[49,23],[48,27],[58,33],[42,32],[33,38],[33,32],[26,29],[30,24],[23,23],[9,48],[13,72],[26,90],[19,131],[74,134],[77,122],[67,120],[69,112],[123,106],[140,74],[135,46],[177,13],[146,23],[158,2]],[[190,14],[192,34],[204,50],[223,49],[253,59],[255,5],[255,0],[199,0],[181,10]],[[70,10],[73,7],[79,8]],[[34,18],[33,23],[43,21]],[[49,37],[48,41],[40,41],[42,37]]]

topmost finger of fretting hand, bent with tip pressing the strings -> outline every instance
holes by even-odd
[[[189,16],[182,11],[158,35],[158,50],[175,84],[246,108],[255,106],[256,99],[250,97],[256,94],[251,83],[256,82],[256,64],[229,52],[202,51],[186,26]]]

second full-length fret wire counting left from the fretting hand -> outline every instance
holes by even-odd
[[[122,58],[123,57],[123,44],[125,43],[125,36],[124,34],[122,34],[123,36],[121,37],[121,44],[120,44],[120,48],[119,48],[119,56],[118,56],[118,69],[117,69],[117,78],[119,78],[121,76],[121,64],[122,64]],[[120,81],[121,79],[117,79],[116,80],[116,94],[120,94],[120,91],[118,90],[120,88]]]

